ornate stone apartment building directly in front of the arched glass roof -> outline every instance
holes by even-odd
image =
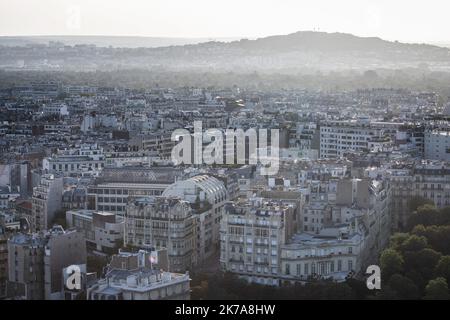
[[[196,217],[178,198],[139,198],[127,206],[125,245],[167,248],[169,271],[185,272],[197,263]]]

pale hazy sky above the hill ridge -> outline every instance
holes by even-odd
[[[263,37],[300,30],[450,42],[448,0],[0,0],[0,35]]]

